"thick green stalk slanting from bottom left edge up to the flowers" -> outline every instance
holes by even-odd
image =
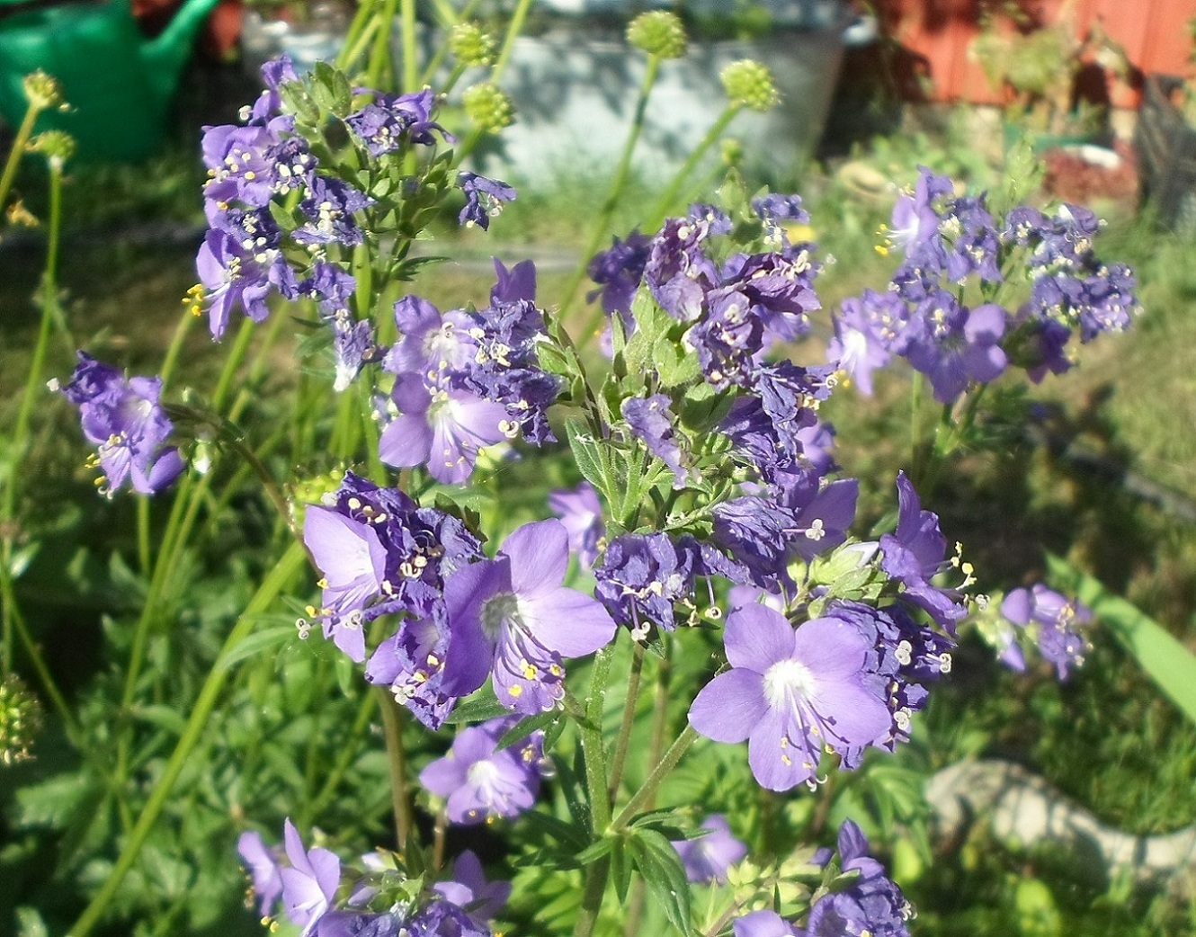
[[[138,856],[141,853],[141,847],[150,836],[150,832],[158,822],[163,808],[165,808],[166,801],[175,787],[175,783],[187,765],[188,757],[209,725],[212,712],[220,699],[225,681],[232,669],[232,664],[228,663],[230,655],[254,631],[254,627],[258,623],[258,616],[286,589],[291,578],[305,560],[306,553],[303,544],[292,543],[277,564],[267,573],[266,579],[245,607],[245,612],[237,620],[232,631],[228,632],[228,637],[220,649],[220,655],[203,681],[200,695],[191,708],[191,714],[187,719],[187,725],[183,728],[183,734],[179,736],[178,743],[175,746],[175,750],[166,762],[161,777],[154,785],[150,799],[141,811],[141,816],[138,817],[136,825],[133,827],[132,833],[129,833],[124,848],[121,850],[121,854],[117,857],[112,870],[108,874],[103,887],[96,893],[91,903],[87,905],[79,917],[79,920],[71,927],[69,937],[86,937],[103,918],[104,912],[108,911],[108,906],[121,890],[126,876],[129,874]]]

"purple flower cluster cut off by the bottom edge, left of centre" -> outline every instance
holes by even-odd
[[[362,857],[364,868],[355,870],[344,868],[329,850],[304,848],[289,820],[283,844],[280,852],[249,830],[237,851],[249,869],[263,921],[270,921],[281,906],[287,920],[301,927],[301,937],[489,937],[487,921],[509,893],[506,883],[486,881],[472,853],[458,859],[458,881],[438,882],[431,893],[422,893],[384,853]]]

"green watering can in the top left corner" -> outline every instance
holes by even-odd
[[[43,111],[37,130],[66,130],[85,159],[144,159],[166,134],[191,41],[216,2],[185,0],[150,39],[130,0],[0,0],[0,116],[13,128],[20,123],[28,109],[22,79],[41,68],[59,79],[72,110]]]

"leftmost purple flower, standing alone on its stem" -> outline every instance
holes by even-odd
[[[124,376],[86,352],[62,394],[79,407],[83,433],[98,446],[90,464],[103,469],[103,494],[128,481],[140,494],[153,494],[170,486],[184,463],[175,448],[164,448],[175,425],[158,397],[161,379]]]

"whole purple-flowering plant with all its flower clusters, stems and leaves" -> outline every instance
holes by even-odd
[[[665,34],[667,49],[647,49],[654,67],[677,53]],[[923,171],[895,209],[885,249],[904,260],[892,284],[844,303],[826,361],[799,365],[786,348],[822,306],[818,248],[789,235],[807,215],[795,195],[732,180],[716,203],[586,258],[606,324],[575,342],[573,323],[539,305],[530,262],[495,261],[489,296],[457,309],[407,292],[434,219],[487,229],[517,197],[459,169],[477,130],[453,150],[441,96],[374,90],[323,63],[299,75],[286,60],[263,79],[239,124],[203,138],[201,305],[213,339],[236,331],[215,393],[163,401],[157,379],[85,354],[63,393],[108,488],[179,486],[167,556],[221,461],[261,481],[291,546],[228,633],[72,933],[96,925],[136,862],[232,656],[270,653],[251,641],[257,616],[305,561],[287,640],[325,641],[342,685],[377,688],[395,830],[362,856],[312,828],[310,802],[285,811],[281,833],[238,817],[251,905],[271,926],[907,933],[913,909],[853,821],[837,859],[779,846],[758,813],[700,823],[708,807],[676,779],[708,766],[756,804],[825,797],[836,773],[910,738],[959,629],[986,610],[922,497],[990,382],[1012,366],[1033,381],[1066,370],[1073,334],[1128,325],[1133,278],[1096,258],[1094,218],[994,214]],[[726,84],[732,115],[776,97],[755,63]],[[474,96],[486,126],[495,93]],[[295,427],[318,439],[298,466],[263,457],[240,425],[249,402],[230,406],[255,334],[291,322],[306,336],[294,393],[331,401]],[[947,442],[893,480],[893,529],[861,536],[859,485],[835,463],[820,406],[848,381],[868,390],[895,357],[929,381]],[[1005,659],[1025,633],[1061,675],[1078,662],[1078,606],[1038,589],[1000,607],[1013,622],[997,639]],[[353,729],[368,740],[362,712]],[[126,740],[114,772],[128,778]],[[329,773],[340,783],[348,767]],[[474,853],[448,871],[452,827],[472,826],[493,830],[489,856],[509,851],[490,863],[514,875],[509,911]]]

